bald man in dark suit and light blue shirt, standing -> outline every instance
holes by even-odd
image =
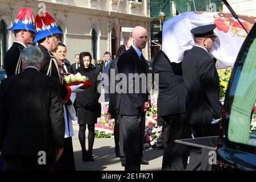
[[[143,150],[142,125],[144,112],[149,109],[147,80],[148,67],[142,55],[147,44],[147,30],[137,26],[132,32],[133,45],[118,60],[118,73],[125,74],[121,90],[117,88],[117,109],[121,115],[125,148],[125,170],[140,170]],[[129,76],[129,73],[133,76]],[[138,74],[135,74],[138,73]],[[137,76],[138,77],[137,77]],[[137,79],[138,78],[138,79]],[[135,81],[134,81],[135,80]],[[126,85],[127,84],[127,85]]]

